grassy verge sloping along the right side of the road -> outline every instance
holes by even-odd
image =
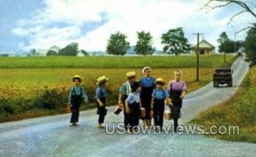
[[[256,67],[250,69],[236,95],[201,112],[191,122],[204,126],[239,126],[239,134],[209,135],[218,139],[256,143]],[[206,127],[206,128],[208,128]]]

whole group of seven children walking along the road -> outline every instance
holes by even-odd
[[[167,89],[164,88],[165,81],[162,78],[154,79],[151,76],[151,68],[143,68],[143,78],[137,81],[137,73],[131,71],[126,73],[127,81],[119,89],[119,109],[124,111],[124,124],[126,132],[136,132],[139,126],[139,119],[143,119],[145,129],[151,126],[151,119],[154,118],[154,126],[158,130],[163,128],[163,118],[165,104],[172,110],[172,118],[174,121],[174,131],[177,132],[177,119],[180,117],[180,109],[182,108],[182,100],[186,94],[187,87],[184,81],[181,81],[182,72],[175,71],[175,80],[170,81]],[[103,128],[106,109],[106,88],[108,81],[106,76],[97,78],[96,82],[96,106],[98,119],[98,128]],[[68,97],[68,107],[72,111],[71,123],[77,125],[79,121],[79,106],[84,98],[88,101],[88,97],[84,92],[84,88],[80,86],[80,76],[73,76],[74,86],[72,87]],[[144,114],[142,115],[142,110]]]

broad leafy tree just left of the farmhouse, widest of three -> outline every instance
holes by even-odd
[[[164,44],[165,53],[189,53],[190,45],[188,39],[184,36],[183,28],[171,29],[161,36],[162,44]]]

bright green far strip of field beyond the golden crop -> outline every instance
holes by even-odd
[[[227,55],[227,60],[233,56]],[[200,66],[212,68],[224,65],[223,55],[201,55]],[[16,68],[190,68],[196,56],[140,56],[140,57],[2,57],[0,69]]]

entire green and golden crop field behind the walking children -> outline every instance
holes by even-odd
[[[74,75],[82,76],[82,84],[90,97],[90,104],[83,105],[82,109],[95,107],[98,76],[109,77],[108,105],[114,105],[119,87],[125,82],[125,73],[135,70],[140,78],[143,66],[148,64],[153,68],[152,75],[163,77],[165,81],[173,79],[174,70],[183,70],[183,80],[190,93],[212,81],[213,70],[224,65],[223,56],[202,56],[201,64],[206,67],[201,67],[201,81],[196,82],[194,59],[195,56],[0,58],[0,122],[65,113],[67,93],[73,85],[71,77]],[[229,65],[234,58],[228,56],[227,60]],[[51,109],[42,108],[41,104],[48,104]]]

